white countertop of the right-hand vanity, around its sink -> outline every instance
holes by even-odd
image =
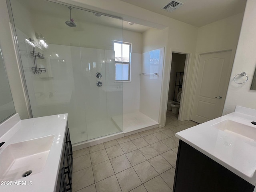
[[[215,124],[224,120],[250,126],[251,130],[244,130],[246,134],[256,130],[256,125],[250,123],[256,121],[256,110],[236,106],[235,112],[178,132],[176,137],[255,186],[255,132],[248,138],[216,128]]]

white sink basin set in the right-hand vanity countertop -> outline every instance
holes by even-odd
[[[224,120],[212,125],[212,127],[225,132],[230,132],[232,134],[238,134],[252,140],[256,140],[256,126],[253,127],[232,120]]]

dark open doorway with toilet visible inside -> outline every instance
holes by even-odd
[[[178,120],[187,54],[172,52],[166,122]]]

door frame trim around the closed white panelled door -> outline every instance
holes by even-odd
[[[230,79],[230,76],[231,76],[231,73],[232,73],[232,70],[233,70],[234,58],[235,58],[235,54],[236,54],[236,46],[233,46],[231,48],[212,50],[212,51],[206,51],[206,52],[196,52],[196,58],[195,58],[195,64],[194,64],[194,72],[193,72],[192,84],[191,84],[192,89],[191,89],[191,92],[190,92],[190,98],[192,98],[192,100],[190,102],[190,110],[188,111],[188,118],[189,118],[189,120],[191,120],[192,109],[193,109],[194,100],[195,100],[195,94],[196,94],[195,88],[196,88],[196,81],[197,81],[197,78],[198,78],[198,67],[199,67],[200,56],[203,55],[203,54],[211,54],[211,53],[218,53],[218,52],[225,52],[225,51],[231,51],[230,62],[232,63],[232,67],[231,67],[230,72],[228,72],[228,74],[227,74],[227,76]],[[229,87],[229,83],[228,83],[228,85],[226,85],[226,93],[225,93],[225,95],[227,95],[228,87]],[[225,97],[224,106],[225,106],[225,103],[226,103],[226,97]],[[224,109],[224,106],[223,106],[223,109]],[[222,109],[222,115],[223,115],[223,109]]]

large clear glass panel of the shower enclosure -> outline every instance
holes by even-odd
[[[68,113],[72,143],[121,132],[112,117],[122,115],[114,60],[122,20],[72,8],[77,26],[70,27],[68,6],[46,0],[10,5],[33,117]]]

